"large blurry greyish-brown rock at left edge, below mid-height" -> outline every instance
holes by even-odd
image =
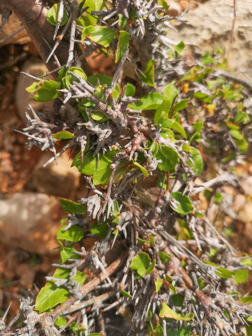
[[[58,200],[38,193],[16,193],[0,200],[0,240],[31,253],[58,253],[56,233],[60,227]]]

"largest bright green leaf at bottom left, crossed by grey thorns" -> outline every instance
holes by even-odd
[[[57,268],[53,274],[53,278],[68,279],[70,270]],[[87,275],[77,271],[77,275],[73,278],[80,285],[86,280]],[[41,288],[38,296],[36,297],[35,310],[39,313],[46,311],[59,303],[63,303],[69,297],[70,293],[64,286],[57,287],[54,280],[49,281],[44,287]]]

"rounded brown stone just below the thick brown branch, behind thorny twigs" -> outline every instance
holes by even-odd
[[[27,60],[20,71],[26,72],[27,74],[35,77],[39,77],[43,73],[48,72],[42,59],[36,57],[32,57]],[[46,76],[46,78],[53,79],[51,75]],[[31,112],[28,110],[29,104],[31,104],[32,107],[38,112],[43,112],[46,108],[49,109],[53,104],[52,101],[38,102],[33,100],[36,92],[30,93],[26,91],[26,88],[30,86],[33,82],[36,82],[36,80],[29,78],[23,74],[19,74],[16,85],[15,100],[18,115],[24,123],[27,122],[25,113],[28,112],[29,115],[31,115]]]

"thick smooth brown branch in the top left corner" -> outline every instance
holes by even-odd
[[[45,3],[42,0],[1,0],[0,9],[2,8],[10,9],[20,19],[33,44],[45,62],[48,56],[48,46],[43,40],[43,37],[50,45],[52,45],[54,33],[54,27],[46,20],[48,7]],[[55,51],[60,64],[66,64],[68,59],[68,49],[68,42],[61,41],[60,48]],[[49,71],[56,68],[53,59],[51,59],[46,66]],[[53,76],[57,78],[57,74],[54,74]]]

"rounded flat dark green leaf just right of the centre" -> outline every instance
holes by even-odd
[[[175,169],[176,164],[179,162],[178,153],[166,145],[161,145],[161,150],[159,148],[156,158],[157,160],[162,160],[158,164],[158,168],[163,171]]]

